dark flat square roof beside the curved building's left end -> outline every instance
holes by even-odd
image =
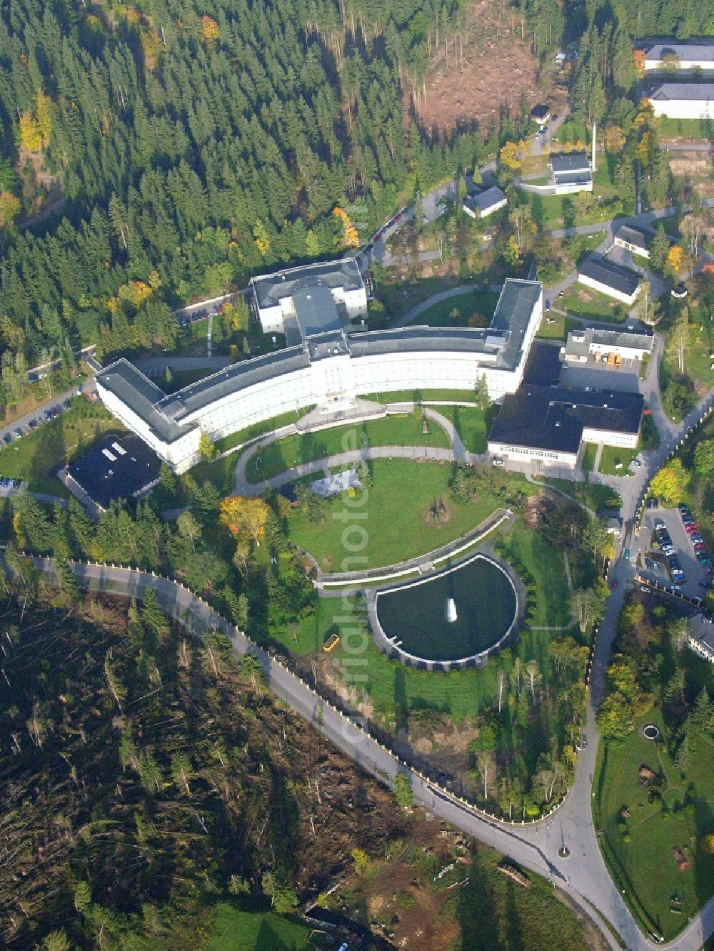
[[[71,463],[69,475],[93,502],[107,509],[113,499],[131,498],[148,489],[157,481],[160,469],[156,453],[143,439],[129,433],[103,439]]]

